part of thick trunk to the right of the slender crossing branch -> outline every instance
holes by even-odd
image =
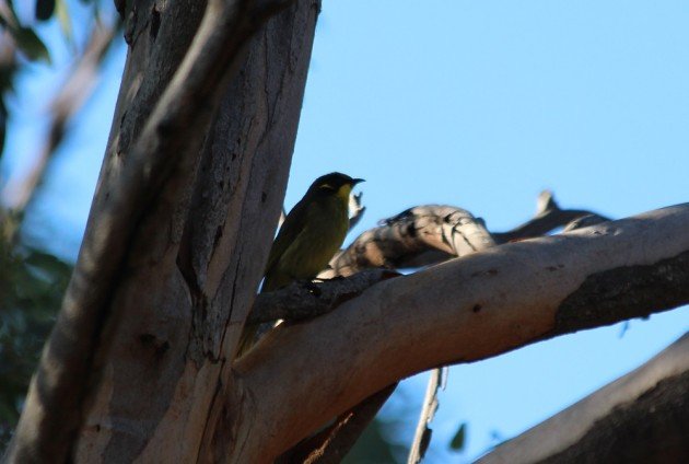
[[[190,208],[172,227],[185,228],[177,266],[165,281],[149,267],[130,275],[129,323],[82,431],[80,462],[209,457],[201,442],[222,411],[214,403],[232,382],[282,206],[318,8],[300,1],[252,40],[203,144]]]

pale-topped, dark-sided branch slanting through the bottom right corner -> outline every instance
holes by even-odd
[[[688,433],[689,333],[478,463],[685,462]]]

